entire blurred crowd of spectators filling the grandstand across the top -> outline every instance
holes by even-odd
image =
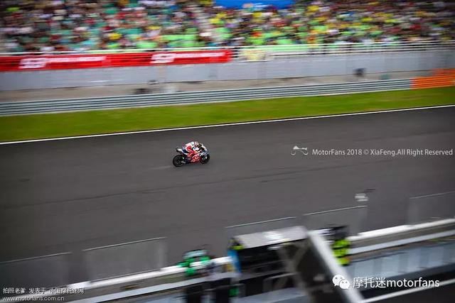
[[[455,1],[3,0],[9,52],[455,39]]]

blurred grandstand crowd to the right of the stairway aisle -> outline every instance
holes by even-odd
[[[255,11],[207,7],[220,43],[270,45],[452,40],[449,1],[296,1],[294,7]]]

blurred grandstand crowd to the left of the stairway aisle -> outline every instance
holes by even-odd
[[[11,52],[204,46],[190,1],[1,1]]]

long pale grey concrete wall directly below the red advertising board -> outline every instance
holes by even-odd
[[[452,50],[434,50],[353,55],[311,55],[292,59],[261,62],[235,61],[210,65],[1,72],[0,90],[142,84],[150,80],[194,82],[352,75],[357,68],[365,68],[365,72],[368,73],[455,68],[455,52]]]

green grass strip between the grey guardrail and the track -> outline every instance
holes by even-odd
[[[0,117],[0,141],[455,104],[455,87]]]

